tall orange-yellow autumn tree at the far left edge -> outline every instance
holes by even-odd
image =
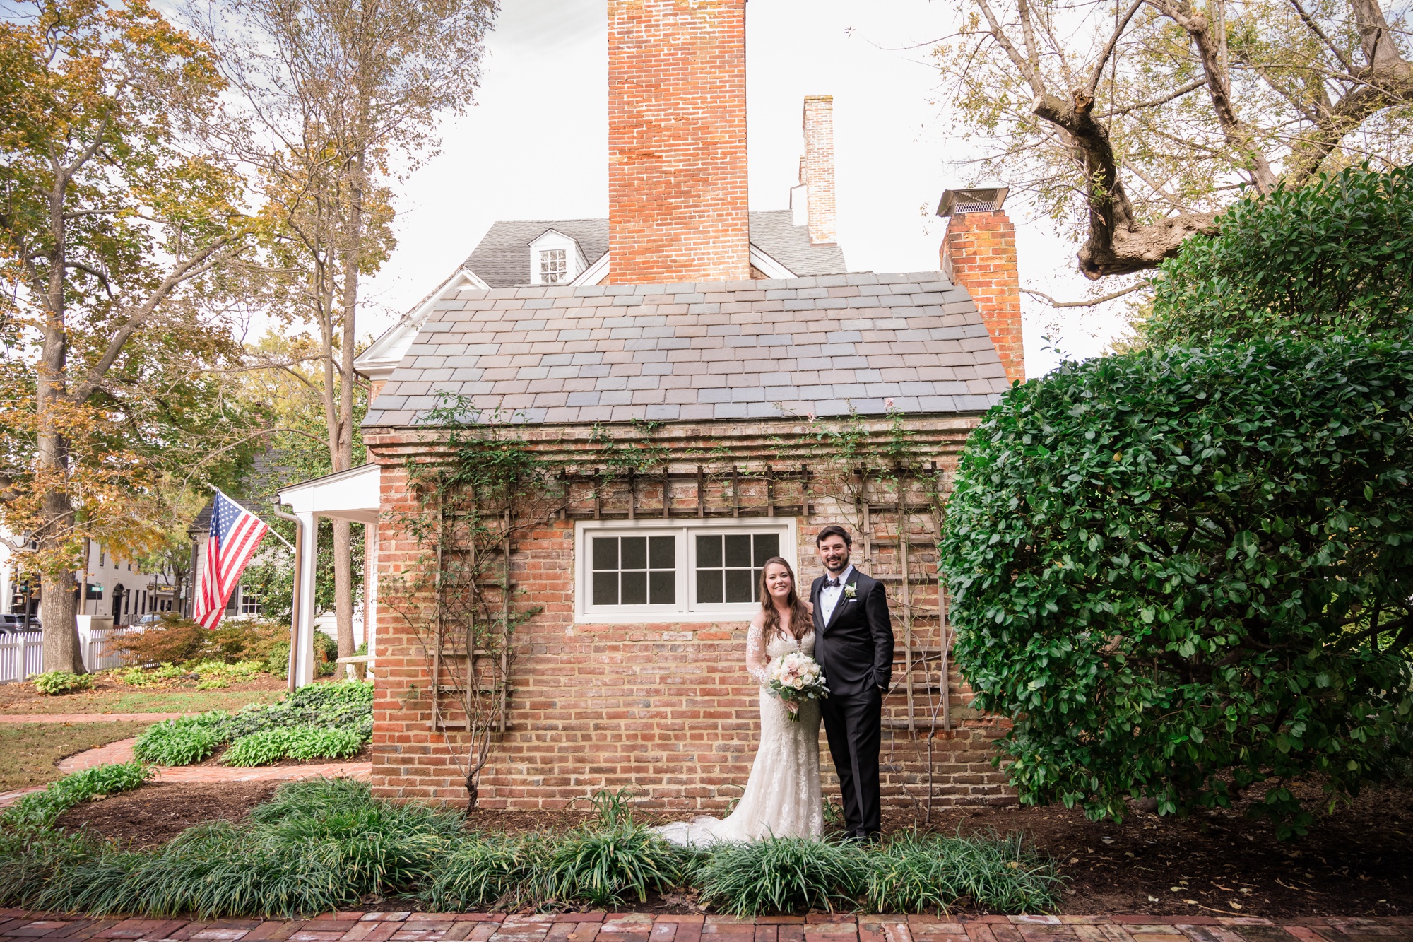
[[[131,559],[158,537],[153,430],[230,345],[203,317],[247,243],[240,178],[206,146],[220,89],[146,0],[0,21],[0,515],[42,578],[51,669],[83,669],[85,539]]]

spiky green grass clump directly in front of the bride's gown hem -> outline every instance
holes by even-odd
[[[803,837],[723,844],[698,868],[697,885],[702,904],[736,917],[852,909],[868,885],[868,854]]]

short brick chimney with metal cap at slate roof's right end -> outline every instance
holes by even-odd
[[[947,216],[942,273],[972,296],[986,324],[1006,379],[1026,382],[1026,347],[1020,331],[1020,266],[1016,226],[1002,212],[1005,187],[948,190],[937,207]]]

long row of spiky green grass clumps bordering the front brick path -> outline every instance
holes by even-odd
[[[85,796],[114,786],[96,779]],[[921,911],[952,905],[961,894],[978,907],[1037,912],[1054,908],[1058,888],[1053,866],[1013,840],[904,839],[865,847],[776,839],[685,850],[630,816],[562,833],[480,833],[465,829],[459,810],[379,801],[349,779],[285,785],[239,825],[202,825],[155,850],[68,835],[51,826],[57,818],[45,812],[40,825],[0,827],[0,905],[301,917],[374,898],[438,911],[560,909],[695,888],[742,914],[883,904]],[[928,860],[934,853],[938,860]],[[952,867],[968,873],[931,894],[914,888]]]

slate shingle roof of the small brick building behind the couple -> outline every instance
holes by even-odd
[[[463,290],[437,303],[365,427],[447,393],[531,423],[979,412],[1005,371],[937,272]]]

